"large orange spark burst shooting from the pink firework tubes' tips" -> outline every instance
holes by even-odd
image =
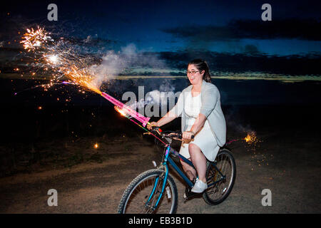
[[[55,84],[53,81],[66,76],[77,86],[84,87],[88,90],[92,90],[98,94],[101,94],[98,86],[95,83],[96,77],[88,70],[90,63],[81,58],[81,55],[73,49],[72,46],[68,46],[68,42],[65,42],[63,38],[60,38],[58,42],[54,42],[54,39],[49,36],[50,33],[46,32],[44,28],[34,30],[34,28],[28,28],[27,33],[22,37],[24,49],[27,51],[37,51],[42,53],[42,57],[34,61],[41,61],[44,66],[44,71],[52,71],[51,84],[46,85],[46,89]],[[49,43],[49,41],[52,41]],[[38,48],[41,47],[39,50]],[[34,76],[35,73],[31,73]]]

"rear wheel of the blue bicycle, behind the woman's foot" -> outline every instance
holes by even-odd
[[[203,193],[205,202],[210,205],[223,202],[233,189],[235,177],[236,165],[232,153],[227,149],[220,150],[215,161],[208,162],[206,179],[209,187]]]

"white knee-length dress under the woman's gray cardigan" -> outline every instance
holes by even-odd
[[[186,131],[192,128],[195,123],[196,118],[198,118],[198,114],[200,113],[200,106],[202,105],[201,95],[200,93],[193,97],[192,93],[189,93],[185,100],[184,111],[186,114],[185,125],[187,125]],[[218,146],[218,142],[215,140],[215,136],[213,135],[212,130],[210,130],[210,125],[208,124],[208,120],[205,120],[203,128],[198,131],[193,140],[190,141],[195,145],[200,147],[205,157],[214,161],[216,155],[218,154],[218,150],[220,147]],[[182,142],[180,146],[180,155],[183,155],[186,158],[190,158],[190,152],[188,151],[188,144]]]

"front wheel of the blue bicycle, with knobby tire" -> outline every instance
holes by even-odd
[[[148,170],[138,175],[123,192],[123,197],[121,197],[118,206],[118,213],[175,213],[178,204],[177,187],[173,177],[168,175],[162,193],[164,178],[164,170]]]

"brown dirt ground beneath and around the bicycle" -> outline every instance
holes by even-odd
[[[231,146],[238,173],[233,191],[222,204],[209,206],[201,197],[184,203],[185,187],[175,177],[178,213],[320,213],[317,139],[307,137],[298,147],[299,142],[285,138],[280,142],[277,135],[262,132],[258,136],[263,142],[256,150],[242,141]],[[152,169],[152,160],[161,160],[151,142],[140,138],[135,142],[128,153],[113,145],[113,156],[102,163],[1,178],[0,213],[116,213],[131,180]],[[58,191],[57,207],[47,204],[49,189]],[[263,189],[272,192],[271,207],[261,204]]]

